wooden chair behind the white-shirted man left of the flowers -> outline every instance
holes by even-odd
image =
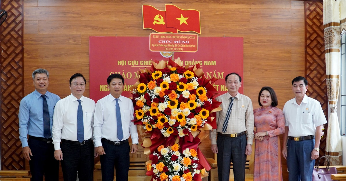
[[[131,145],[131,144],[130,144]],[[138,150],[136,153],[130,152],[130,168],[129,168],[129,176],[128,180],[142,180],[142,181],[150,181],[150,177],[145,175],[146,173],[146,165],[145,162],[147,161],[147,155],[144,154],[144,148],[138,144]],[[115,171],[114,171],[115,176]],[[114,177],[114,180],[115,177]],[[95,164],[94,169],[94,181],[102,181],[102,174],[101,174],[101,162],[97,162]]]

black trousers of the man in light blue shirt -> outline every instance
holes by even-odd
[[[59,180],[59,161],[54,158],[54,145],[37,139],[28,139],[30,156],[31,181]]]

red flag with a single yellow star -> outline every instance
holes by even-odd
[[[166,26],[182,32],[194,31],[201,34],[199,11],[194,9],[180,9],[173,4],[166,6]]]

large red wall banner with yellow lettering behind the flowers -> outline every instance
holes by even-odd
[[[122,95],[132,97],[130,87],[139,78],[138,70],[150,68],[151,60],[166,60],[160,52],[149,50],[149,37],[89,37],[90,98],[97,101],[109,94],[107,77],[120,73],[125,78]],[[243,77],[242,37],[199,37],[198,51],[175,52],[184,65],[200,64],[207,79],[217,78],[213,86],[225,93],[225,77],[236,72]],[[243,92],[243,86],[239,92]]]

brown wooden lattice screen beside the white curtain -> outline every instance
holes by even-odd
[[[323,4],[305,1],[305,74],[309,82],[307,95],[317,99],[328,120],[326,61],[324,47]],[[325,155],[328,125],[320,142],[320,154]],[[320,155],[320,156],[321,156]],[[323,159],[321,159],[323,160]],[[321,161],[324,164],[324,160]]]

